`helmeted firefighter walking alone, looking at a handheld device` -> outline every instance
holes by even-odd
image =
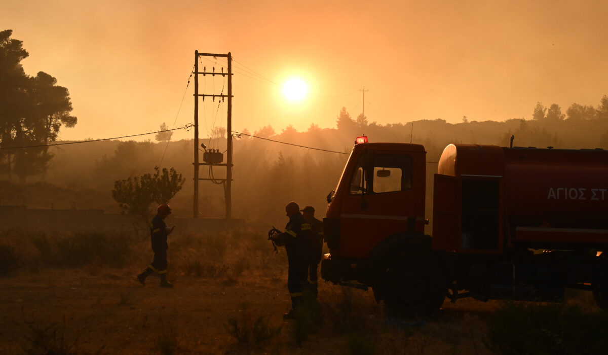
[[[169,248],[167,236],[171,234],[175,226],[169,228],[164,221],[171,214],[171,207],[164,203],[158,206],[156,210],[157,214],[150,223],[150,239],[154,251],[154,260],[142,273],[137,275],[137,281],[143,285],[148,275],[156,272],[161,276],[161,287],[173,287],[173,284],[167,281],[167,249]]]

